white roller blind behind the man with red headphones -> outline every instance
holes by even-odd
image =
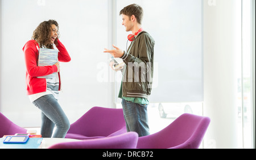
[[[117,1],[117,46],[124,50],[130,33],[125,32],[119,11],[132,3],[142,6],[142,26],[155,40],[154,85],[150,102],[203,101],[203,2]],[[120,73],[117,73],[116,96],[120,77]]]

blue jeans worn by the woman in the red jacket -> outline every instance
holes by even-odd
[[[47,94],[32,103],[42,111],[42,137],[64,138],[70,127],[69,120],[53,95]],[[55,126],[56,130],[52,136]]]

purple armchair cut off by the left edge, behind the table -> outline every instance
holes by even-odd
[[[26,133],[27,129],[17,126],[11,120],[0,113],[0,137],[4,135],[15,135],[15,133]]]

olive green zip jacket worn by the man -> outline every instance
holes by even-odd
[[[121,57],[125,62],[122,79],[122,97],[146,98],[151,94],[154,71],[155,41],[142,31],[131,42]]]

